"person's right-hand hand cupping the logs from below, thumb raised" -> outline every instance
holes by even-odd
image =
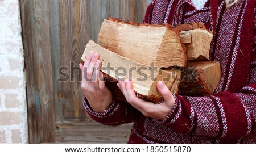
[[[171,108],[175,103],[174,96],[162,81],[159,81],[156,85],[159,93],[164,98],[164,102],[160,104],[154,104],[152,102],[139,99],[135,95],[133,85],[129,80],[126,80],[126,82],[120,81],[117,86],[122,91],[123,95],[125,95],[127,102],[129,102],[134,108],[137,108],[137,110],[141,111],[143,115],[151,118],[163,120],[171,111]]]

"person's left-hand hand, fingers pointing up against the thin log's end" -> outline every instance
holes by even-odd
[[[79,64],[82,70],[82,91],[88,100],[90,107],[95,112],[104,112],[112,104],[112,94],[105,86],[102,77],[101,61],[98,53],[90,51],[86,56],[84,65]]]

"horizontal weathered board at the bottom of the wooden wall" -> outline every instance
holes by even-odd
[[[56,143],[127,143],[132,125],[109,127],[96,122],[56,122]]]

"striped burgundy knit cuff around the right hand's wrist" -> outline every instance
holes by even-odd
[[[177,118],[179,118],[179,116],[181,114],[181,102],[180,102],[179,98],[177,98],[176,95],[174,95],[174,98],[175,98],[174,106],[172,107],[171,111],[167,114],[166,118],[164,118],[163,120],[154,119],[154,121],[156,123],[172,124],[177,120]]]

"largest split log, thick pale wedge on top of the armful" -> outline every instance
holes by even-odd
[[[129,24],[105,19],[98,44],[146,66],[185,66],[180,37],[170,26]]]

